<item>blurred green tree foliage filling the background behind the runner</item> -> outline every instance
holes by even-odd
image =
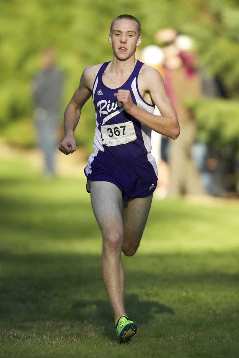
[[[107,0],[0,0],[0,128],[12,144],[34,145],[31,81],[38,54],[52,45],[67,83],[64,108],[78,86],[83,68],[112,58],[107,43],[111,20],[121,13],[142,24],[143,44],[153,43],[162,27],[192,36],[199,64],[221,83],[226,98],[188,102],[200,124],[200,135],[211,145],[236,142],[239,133],[239,8],[236,0],[148,0],[117,3]],[[95,120],[91,101],[76,130],[78,145],[91,151]]]

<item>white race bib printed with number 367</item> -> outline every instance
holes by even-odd
[[[132,121],[101,126],[101,135],[103,144],[109,147],[126,144],[137,139]]]

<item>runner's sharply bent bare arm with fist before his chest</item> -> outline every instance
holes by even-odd
[[[156,69],[147,66],[140,73],[140,81],[162,116],[149,113],[135,105],[128,90],[119,89],[114,96],[120,104],[123,104],[124,110],[138,121],[162,135],[176,139],[180,134],[177,113],[168,98],[161,74]]]

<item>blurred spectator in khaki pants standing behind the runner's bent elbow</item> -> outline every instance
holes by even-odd
[[[195,67],[196,54],[192,50],[190,38],[178,36],[175,29],[159,30],[155,35],[155,41],[164,44],[164,82],[181,128],[177,141],[169,139],[168,194],[204,194],[199,170],[191,155],[196,140],[197,124],[185,105],[186,98],[198,98],[202,95],[201,77]]]

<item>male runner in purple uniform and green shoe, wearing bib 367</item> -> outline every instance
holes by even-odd
[[[84,69],[66,107],[65,136],[59,146],[66,155],[76,150],[74,130],[92,95],[94,153],[85,175],[102,232],[101,275],[120,342],[127,342],[137,332],[124,307],[121,252],[132,256],[137,251],[157,185],[157,166],[150,153],[151,129],[173,139],[180,133],[160,73],[135,59],[142,40],[140,30],[139,21],[131,15],[113,20],[108,38],[113,61]],[[162,116],[153,114],[155,105]]]

